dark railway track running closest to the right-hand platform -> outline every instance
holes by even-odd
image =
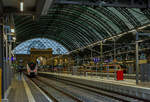
[[[77,83],[77,82],[70,81],[70,80],[60,79],[58,77],[53,77],[51,79],[52,80],[57,80],[57,81],[59,81],[61,83],[64,83],[66,85],[78,87],[78,88],[81,88],[81,89],[88,90],[90,92],[101,94],[101,95],[113,98],[113,99],[121,101],[121,102],[149,102],[148,100],[139,99],[137,97],[128,96],[128,95],[123,95],[123,94],[108,91],[108,90],[103,90],[103,89],[100,89],[100,88],[97,88],[97,87],[92,87],[92,86],[89,86],[89,85],[86,85],[86,84],[81,84],[81,83]]]

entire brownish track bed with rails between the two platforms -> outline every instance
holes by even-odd
[[[53,102],[148,102],[148,100],[123,95],[67,79],[61,79],[56,76],[48,78],[36,76],[30,78],[30,80],[47,94]],[[57,96],[54,94],[57,94]],[[60,98],[63,98],[63,101],[60,100]],[[104,101],[104,99],[106,101]]]

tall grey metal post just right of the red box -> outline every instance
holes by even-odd
[[[136,84],[139,83],[139,34],[136,33]]]

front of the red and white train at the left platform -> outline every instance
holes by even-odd
[[[36,76],[38,71],[38,65],[36,63],[29,63],[27,64],[27,74],[29,76]]]

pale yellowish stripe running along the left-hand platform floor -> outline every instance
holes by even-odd
[[[36,102],[32,93],[31,93],[31,90],[27,84],[27,82],[25,81],[24,77],[22,76],[22,80],[23,80],[23,84],[24,84],[24,87],[25,87],[25,91],[26,91],[26,94],[27,94],[27,97],[28,97],[28,101],[29,102]]]

